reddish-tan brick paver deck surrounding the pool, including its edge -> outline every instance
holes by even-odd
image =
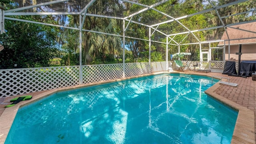
[[[160,72],[155,74],[162,74],[169,72]],[[214,86],[206,90],[206,94],[212,96],[213,98],[223,102],[224,104],[238,110],[238,118],[236,120],[236,126],[234,129],[234,133],[232,136],[232,144],[255,144],[256,133],[255,133],[255,114],[256,114],[256,81],[252,80],[252,77],[242,78],[235,76],[228,76],[221,73],[214,72],[193,72],[193,71],[175,71],[173,73],[182,73],[182,74],[196,74],[196,75],[204,75],[204,76],[219,76],[230,78],[230,82],[237,83],[237,87],[232,87],[224,84],[216,83]],[[147,74],[146,76],[151,75]],[[144,75],[145,76],[145,75]],[[134,76],[131,78],[136,78],[140,76]],[[122,78],[119,80],[125,80],[129,78]],[[224,79],[223,79],[224,80]],[[106,82],[116,82],[118,80],[109,80]],[[97,82],[94,84],[102,84],[102,82]],[[7,134],[10,130],[12,122],[15,118],[16,112],[20,106],[24,106],[45,96],[49,96],[50,94],[68,90],[73,88],[80,88],[84,86],[91,86],[94,84],[83,84],[79,86],[70,86],[65,88],[58,88],[54,90],[46,90],[41,92],[30,93],[33,96],[31,100],[22,101],[15,106],[10,108],[4,108],[4,106],[10,104],[10,100],[14,97],[28,95],[22,94],[17,96],[3,97],[0,98],[0,144],[4,144],[4,141],[7,137]]]

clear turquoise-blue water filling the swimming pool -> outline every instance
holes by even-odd
[[[20,108],[5,143],[230,144],[238,113],[210,86],[165,74],[58,92]]]

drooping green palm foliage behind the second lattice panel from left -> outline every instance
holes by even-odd
[[[105,2],[105,1],[100,1]],[[100,3],[99,2],[99,3]],[[100,3],[101,4],[101,3]],[[92,6],[93,8],[94,6]],[[88,10],[88,11],[91,11]],[[78,25],[75,16],[69,16],[69,25]],[[118,34],[120,28],[118,21],[108,18],[93,18],[86,16],[84,29],[93,30],[97,32],[105,32],[111,34]],[[121,39],[117,36],[110,36],[102,33],[82,32],[82,62],[83,64],[98,64],[115,62],[113,57],[115,54],[120,54],[122,51]],[[61,34],[60,42],[62,47],[68,51],[76,52],[79,47],[79,31],[66,29]],[[108,60],[106,60],[108,58]]]

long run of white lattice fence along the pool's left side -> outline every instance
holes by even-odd
[[[152,62],[151,72],[166,71],[166,62]],[[149,63],[125,64],[125,77],[149,74]],[[0,97],[80,84],[79,66],[0,70]],[[82,84],[123,77],[122,64],[82,66]]]

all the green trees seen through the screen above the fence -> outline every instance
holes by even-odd
[[[150,6],[160,0],[133,1]],[[211,2],[213,5],[219,6],[232,1],[212,0]],[[10,4],[11,2],[13,3]],[[0,4],[6,9],[10,9],[16,5],[22,5],[22,2],[22,0],[1,0]],[[84,2],[76,1],[74,5],[75,4],[77,4],[77,6],[70,6],[70,9],[78,12],[80,6],[84,5]],[[220,8],[218,9],[218,14],[220,16],[226,16],[227,12],[230,12],[231,14],[246,12],[255,9],[255,5],[255,0],[248,0],[225,8]],[[58,6],[58,4],[54,6]],[[49,8],[54,9],[50,6]],[[98,15],[128,16],[143,8],[145,7],[128,2],[120,3],[119,0],[98,0],[87,9],[87,12]],[[166,42],[166,35],[163,35],[162,33],[176,34],[187,32],[189,30],[198,30],[222,25],[215,10],[188,16],[187,18],[176,19],[180,16],[186,16],[212,8],[212,5],[204,0],[169,0],[154,8],[156,10],[147,10],[128,19],[149,26],[166,20],[173,21],[160,24],[158,27],[152,26],[151,34],[149,34],[149,28],[147,26],[126,21],[125,26],[127,26],[128,23],[129,26],[126,29],[125,35],[132,38],[125,38],[125,62],[148,62],[149,42],[147,40],[149,40],[149,36],[151,36],[152,41]],[[161,11],[167,15],[160,14],[157,11]],[[44,18],[42,16],[14,16],[14,18],[36,20],[38,22],[51,24],[64,24],[68,21],[68,25],[66,26],[79,28],[79,16],[77,15],[68,15],[67,17],[44,16]],[[224,20],[225,24],[232,24],[235,22],[255,19],[255,14],[250,15],[250,13],[246,13],[227,17],[222,20]],[[86,16],[83,29],[86,29],[87,31],[82,31],[82,64],[110,64],[122,62],[122,37],[102,34],[110,33],[122,35],[122,22],[122,20],[117,19]],[[41,67],[49,66],[50,64],[56,66],[54,63],[50,63],[50,60],[60,56],[62,56],[60,60],[62,66],[79,64],[79,30],[41,26],[38,24],[10,20],[6,20],[5,27],[7,33],[0,36],[0,42],[4,46],[4,50],[0,52],[0,68],[13,68],[14,64],[18,64],[16,68]],[[157,30],[155,31],[155,29]],[[158,30],[160,32],[158,32]],[[199,60],[198,44],[186,46],[182,44],[220,39],[223,32],[224,28],[218,28],[170,36],[170,38],[168,38],[168,41],[171,41],[168,46],[168,57],[170,54],[178,52],[178,46],[175,45],[180,44],[180,52],[185,52],[188,49],[192,54],[189,58],[186,58],[187,60]],[[61,52],[56,49],[57,38]],[[166,44],[151,42],[150,50],[152,62],[165,60]]]

